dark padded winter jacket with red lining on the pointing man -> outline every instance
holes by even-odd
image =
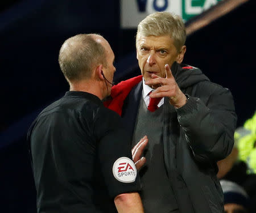
[[[233,147],[237,117],[232,94],[195,67],[175,63],[171,70],[181,91],[188,95],[187,104],[179,109],[171,106],[170,110],[168,98],[164,100],[164,161],[180,212],[223,212],[216,162],[228,156]],[[127,93],[125,83],[121,84]],[[129,85],[127,97],[119,91],[107,105],[122,108],[121,116],[132,138],[142,82],[132,88]],[[118,85],[113,87],[115,91]]]

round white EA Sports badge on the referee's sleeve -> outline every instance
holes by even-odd
[[[113,165],[113,174],[120,182],[134,182],[137,169],[129,157],[119,157]]]

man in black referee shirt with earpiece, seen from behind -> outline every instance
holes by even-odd
[[[113,61],[100,35],[76,35],[61,46],[70,91],[28,132],[38,212],[143,212],[131,142],[119,116],[101,102],[112,89]]]

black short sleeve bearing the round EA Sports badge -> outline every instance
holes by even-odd
[[[111,197],[140,190],[137,169],[131,156],[131,142],[117,113],[99,112],[94,126],[98,137],[100,169]]]

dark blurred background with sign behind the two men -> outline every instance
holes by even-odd
[[[104,36],[119,82],[140,74],[137,24],[155,11],[181,15],[188,29],[183,62],[232,91],[242,126],[256,106],[255,8],[253,0],[1,0],[0,212],[36,212],[26,133],[40,110],[69,90],[57,61],[68,37]]]

